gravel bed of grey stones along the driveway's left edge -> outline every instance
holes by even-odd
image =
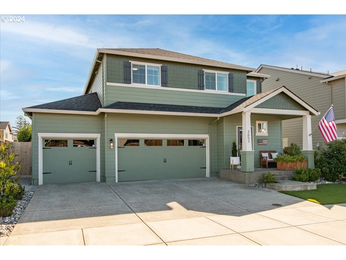
[[[33,195],[34,192],[32,191],[25,192],[23,198],[21,200],[17,200],[17,206],[13,209],[12,216],[0,217],[0,236],[8,236],[11,234],[12,229],[17,224],[21,214]]]

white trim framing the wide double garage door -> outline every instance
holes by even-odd
[[[158,133],[114,133],[115,144],[115,182],[118,182],[118,138],[170,138],[170,139],[206,139],[206,177],[210,176],[209,166],[209,135],[158,134]]]

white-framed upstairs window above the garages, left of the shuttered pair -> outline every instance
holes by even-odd
[[[133,84],[161,86],[161,64],[130,62]]]

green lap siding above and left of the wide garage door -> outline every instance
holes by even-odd
[[[107,116],[107,140],[114,133],[209,134],[215,118],[173,115],[112,114]],[[115,149],[117,144],[115,144]],[[115,149],[107,147],[106,181],[115,182]],[[211,165],[212,168],[212,165]]]

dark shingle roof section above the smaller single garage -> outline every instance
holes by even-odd
[[[90,93],[78,97],[66,98],[59,101],[45,103],[26,108],[32,109],[56,109],[56,110],[74,110],[74,111],[92,111],[95,112],[101,108],[101,102],[97,93]]]

